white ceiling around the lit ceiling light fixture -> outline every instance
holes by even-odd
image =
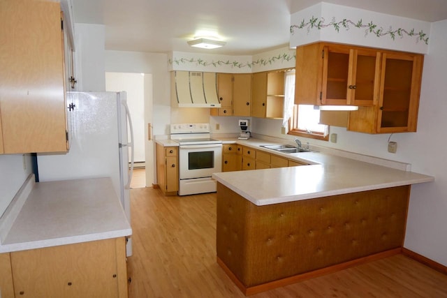
[[[105,49],[244,55],[288,45],[290,15],[318,0],[73,0],[74,22],[105,24]],[[435,22],[447,19],[447,0],[326,0],[379,13]],[[226,45],[198,50],[186,44],[199,30]]]

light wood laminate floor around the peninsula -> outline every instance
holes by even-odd
[[[164,197],[131,190],[131,298],[244,297],[216,262],[216,195]],[[404,255],[253,295],[268,297],[447,297],[447,275]]]

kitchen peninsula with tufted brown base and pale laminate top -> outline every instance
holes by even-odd
[[[245,295],[400,253],[411,184],[434,181],[330,154],[292,156],[310,165],[213,174],[217,260]]]

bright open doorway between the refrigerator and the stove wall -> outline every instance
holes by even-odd
[[[131,188],[152,186],[154,143],[152,141],[152,74],[105,73],[106,91],[126,91],[133,122],[134,179]],[[129,154],[129,162],[130,162]]]

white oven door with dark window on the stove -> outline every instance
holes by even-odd
[[[180,145],[179,149],[180,180],[222,172],[222,144]]]

